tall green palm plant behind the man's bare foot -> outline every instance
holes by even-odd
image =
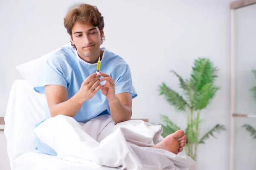
[[[180,88],[184,92],[183,96],[167,87],[164,82],[159,86],[160,95],[163,95],[166,101],[175,107],[177,112],[187,113],[187,125],[186,130],[184,130],[187,136],[185,151],[194,160],[196,160],[198,144],[204,144],[210,136],[215,137],[214,133],[220,133],[226,130],[224,125],[217,124],[209,132],[204,134],[204,136],[199,138],[201,131],[201,111],[209,105],[216,92],[220,89],[215,85],[217,71],[217,68],[213,66],[209,59],[198,58],[195,59],[189,79],[184,80],[175,71],[171,71],[179,79]],[[175,125],[168,116],[162,115],[161,119],[165,123],[165,125],[161,124],[163,127],[163,137],[180,130],[180,127]]]

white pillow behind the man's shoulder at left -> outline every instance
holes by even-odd
[[[71,47],[71,43],[67,43],[66,45],[63,45],[62,47]],[[61,48],[61,47],[60,47]],[[16,68],[20,72],[20,74],[29,82],[32,87],[35,86],[38,75],[40,75],[40,72],[42,70],[43,63],[47,60],[47,58],[54,54],[56,51],[58,51],[60,48],[45,54],[42,57],[39,57],[37,59],[33,59],[32,61],[17,65]]]

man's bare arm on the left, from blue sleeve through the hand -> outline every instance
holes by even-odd
[[[61,85],[46,85],[45,95],[47,98],[51,116],[59,114],[74,117],[81,109],[85,101],[91,99],[100,89],[99,77],[91,74],[81,84],[79,92],[68,99],[67,89]]]

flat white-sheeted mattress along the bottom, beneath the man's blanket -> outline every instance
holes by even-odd
[[[117,168],[100,166],[91,161],[80,164],[65,161],[56,156],[40,154],[38,152],[23,153],[13,161],[13,170],[117,170]]]

